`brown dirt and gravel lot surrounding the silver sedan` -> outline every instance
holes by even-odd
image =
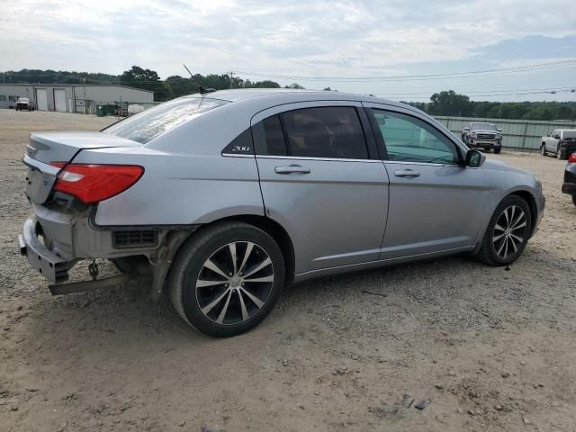
[[[497,157],[535,172],[547,199],[509,271],[453,257],[322,279],[284,293],[254,331],[217,340],[141,284],[52,297],[18,253],[31,130],[112,120],[0,110],[0,430],[576,430],[564,162]],[[405,392],[432,402],[405,409]]]

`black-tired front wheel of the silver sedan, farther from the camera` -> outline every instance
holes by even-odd
[[[504,218],[504,211],[508,211],[508,214],[511,213],[511,209],[515,207],[516,209],[521,209],[524,212],[524,220],[518,220],[517,225],[522,225],[524,222],[525,225],[520,227],[519,229],[511,230],[511,232],[517,238],[522,238],[522,242],[519,242],[516,238],[509,238],[508,235],[504,235],[503,239],[500,236],[500,232],[505,232],[497,228],[497,223],[502,220],[506,220]],[[515,210],[518,211],[518,210]],[[515,213],[510,219],[510,222],[514,222],[517,218],[517,214]],[[501,221],[499,227],[502,228]],[[508,228],[508,227],[506,227]],[[476,257],[480,259],[483,263],[488,264],[490,266],[508,266],[509,264],[513,263],[520,257],[524,248],[527,245],[528,238],[532,233],[532,215],[530,213],[530,208],[526,201],[520,198],[518,195],[509,195],[500,204],[496,207],[494,214],[492,214],[490,223],[488,224],[488,228],[484,233],[484,237],[482,238],[482,246],[478,251]],[[509,243],[509,241],[511,243]],[[503,246],[502,242],[506,242]],[[506,247],[506,251],[503,248]],[[510,247],[511,254],[508,255],[508,250]],[[503,254],[499,255],[500,253]]]

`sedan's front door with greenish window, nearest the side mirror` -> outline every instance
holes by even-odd
[[[390,177],[380,259],[472,247],[488,194],[482,168],[465,167],[455,140],[418,112],[365,105]]]

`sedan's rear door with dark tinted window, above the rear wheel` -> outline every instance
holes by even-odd
[[[293,242],[295,272],[374,261],[388,177],[361,103],[292,103],[252,120],[266,216]]]

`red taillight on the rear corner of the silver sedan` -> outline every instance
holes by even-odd
[[[144,174],[144,168],[137,165],[50,165],[63,167],[54,190],[73,195],[86,204],[112,198],[135,184]]]

